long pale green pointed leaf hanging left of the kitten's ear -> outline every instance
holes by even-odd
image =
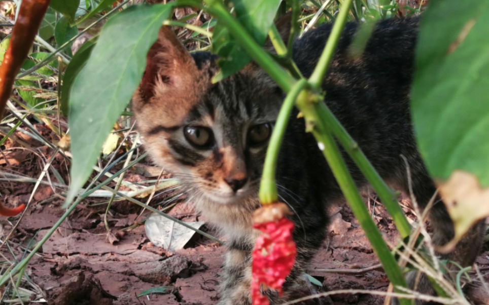
[[[146,54],[173,6],[174,3],[132,6],[104,25],[71,90],[73,165],[66,204],[90,176],[103,142],[141,82]]]

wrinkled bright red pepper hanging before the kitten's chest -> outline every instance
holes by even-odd
[[[253,227],[262,235],[256,240],[252,253],[253,305],[269,304],[260,287],[276,290],[282,295],[282,286],[294,266],[297,249],[292,239],[294,223],[285,217],[288,214],[290,210],[283,203],[264,206],[255,213]]]

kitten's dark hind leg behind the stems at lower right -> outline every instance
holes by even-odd
[[[411,169],[412,171],[412,169]],[[424,209],[436,192],[436,187],[424,169],[412,172],[413,195]],[[429,212],[430,224],[433,227],[432,241],[436,246],[442,246],[450,241],[454,236],[453,222],[448,215],[444,203],[439,197],[435,198],[435,204]],[[447,254],[441,254],[441,259],[447,259],[459,263],[462,267],[470,266],[474,263],[483,244],[483,233],[485,221],[480,221],[474,225],[466,236],[457,244],[455,249]],[[458,270],[453,264],[448,264],[449,269]],[[418,277],[418,272],[413,271],[406,275],[409,287],[416,288],[423,294],[436,295],[428,278],[425,275]],[[417,287],[414,285],[417,284]],[[398,304],[397,300],[393,304]],[[416,305],[424,304],[416,301]],[[425,303],[429,304],[429,303]]]

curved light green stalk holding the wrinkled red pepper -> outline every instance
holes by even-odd
[[[289,122],[290,113],[294,107],[295,101],[299,93],[307,86],[305,79],[299,80],[292,90],[287,94],[287,97],[278,113],[273,133],[270,137],[270,142],[267,148],[265,164],[263,166],[263,174],[260,180],[260,202],[262,204],[270,204],[278,201],[277,186],[275,182],[275,168],[277,165],[278,151],[284,138],[285,129]]]

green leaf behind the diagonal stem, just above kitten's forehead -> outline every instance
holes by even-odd
[[[235,0],[239,22],[259,43],[263,44],[282,0]],[[220,56],[221,72],[214,81],[227,78],[250,62],[251,57],[236,43],[229,31],[219,22],[213,35],[213,51]]]

